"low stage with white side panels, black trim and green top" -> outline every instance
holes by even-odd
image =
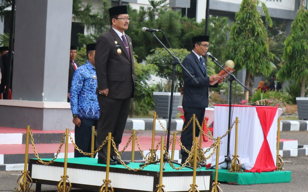
[[[43,159],[50,161],[51,159]],[[128,164],[131,168],[140,168],[140,163]],[[29,160],[30,176],[36,183],[36,191],[40,191],[41,184],[57,185],[63,175],[64,159],[55,159],[50,165],[42,165],[37,159]],[[175,165],[175,167],[180,167]],[[156,190],[159,184],[160,165],[148,165],[143,170],[132,171],[123,165],[111,165],[109,179],[114,191],[150,192]],[[106,177],[106,165],[98,164],[97,159],[88,157],[69,158],[67,160],[67,175],[72,187],[99,190]],[[213,170],[197,170],[196,184],[200,192],[212,190]],[[167,163],[163,172],[164,189],[168,192],[188,191],[193,183],[193,170],[183,168],[174,170]],[[56,189],[56,187],[55,187]]]

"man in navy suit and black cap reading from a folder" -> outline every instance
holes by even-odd
[[[198,84],[185,70],[183,71],[184,93],[183,93],[183,110],[186,126],[193,114],[196,115],[201,124],[204,118],[205,108],[209,105],[209,87],[210,82],[218,80],[221,83],[223,79],[219,75],[208,76],[206,71],[206,60],[202,57],[206,55],[209,48],[209,36],[197,36],[192,38],[193,50],[185,57],[183,66],[195,77]],[[214,84],[211,87],[217,87]],[[199,136],[199,128],[196,127],[196,137]],[[190,123],[185,131],[181,134],[181,142],[189,151],[193,143],[193,123]],[[181,149],[182,162],[188,158],[188,153]]]

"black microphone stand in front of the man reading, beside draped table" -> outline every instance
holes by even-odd
[[[232,82],[233,80],[237,81],[237,83],[241,84],[242,87],[244,87],[247,91],[250,91],[247,87],[245,87],[245,85],[243,85],[240,81],[237,80],[237,78],[233,75],[233,73],[229,72],[228,70],[226,70],[221,63],[219,63],[219,61],[215,58],[215,57],[211,57],[212,61],[218,65],[221,69],[223,69],[226,73],[229,74],[229,121],[228,121],[228,130],[231,126],[231,102],[232,102]],[[217,62],[218,61],[218,62]],[[231,132],[231,131],[230,131]],[[222,163],[227,163],[227,167],[228,168],[228,164],[229,162],[231,162],[231,158],[230,158],[230,154],[229,154],[229,148],[230,148],[230,132],[228,133],[228,144],[227,144],[227,155],[225,155],[225,160],[218,163],[218,165],[222,164]],[[213,167],[215,167],[216,165],[213,165],[211,167],[208,167],[206,169],[212,169]]]

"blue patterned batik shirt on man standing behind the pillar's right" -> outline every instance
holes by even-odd
[[[95,68],[87,61],[74,72],[70,92],[71,110],[79,119],[99,119],[96,87]]]

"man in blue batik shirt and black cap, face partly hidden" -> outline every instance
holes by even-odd
[[[95,43],[87,45],[86,64],[75,72],[71,84],[70,103],[75,124],[75,143],[84,152],[91,153],[92,126],[97,127],[100,111],[95,94]],[[74,157],[85,157],[75,149]],[[89,157],[89,156],[86,156]]]

